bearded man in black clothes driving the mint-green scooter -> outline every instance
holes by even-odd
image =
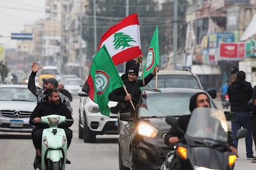
[[[66,116],[66,119],[73,119],[70,110],[67,109],[64,103],[60,102],[58,89],[48,89],[47,100],[45,102],[38,103],[30,116],[29,123],[35,126],[32,131],[32,139],[33,145],[36,149],[35,163],[37,164],[41,163],[41,140],[43,129],[48,127],[45,124],[40,124],[40,118],[41,116],[53,114]],[[65,124],[59,125],[59,127],[63,128],[66,132],[67,148],[69,148],[72,139],[72,130],[69,129],[72,124],[73,122],[67,121]],[[70,161],[67,160],[67,163],[70,163]]]

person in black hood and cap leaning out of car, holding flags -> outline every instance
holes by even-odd
[[[159,68],[155,67],[152,73],[145,77],[145,85],[147,85],[151,79],[156,75],[156,71]],[[140,87],[145,86],[143,85],[142,79],[137,79],[139,76],[139,67],[135,65],[131,65],[129,69],[127,69],[127,78],[123,79],[124,85],[127,88],[128,94],[123,87],[115,89],[111,94],[109,94],[108,99],[111,101],[118,102],[116,107],[111,107],[112,113],[124,113],[124,112],[131,112],[134,113],[134,109],[129,100],[132,100],[134,107],[136,108],[137,103],[139,103],[141,90]]]

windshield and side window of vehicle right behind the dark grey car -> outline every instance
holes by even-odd
[[[197,79],[191,75],[158,75],[157,88],[179,87],[190,89],[201,89],[198,86]],[[155,89],[156,79],[151,79],[150,83],[143,86],[142,89]]]

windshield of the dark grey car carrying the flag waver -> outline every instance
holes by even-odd
[[[172,92],[142,94],[139,103],[141,117],[189,115],[189,100],[194,93]],[[210,100],[211,107],[214,107]]]

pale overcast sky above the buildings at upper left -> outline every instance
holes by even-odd
[[[45,18],[45,0],[0,0],[0,44],[15,48],[11,33],[20,33],[24,25]]]

